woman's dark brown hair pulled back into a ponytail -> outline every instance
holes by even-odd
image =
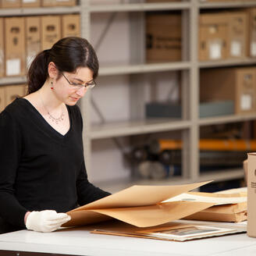
[[[98,58],[94,48],[84,38],[64,37],[51,49],[39,52],[27,73],[28,93],[39,90],[48,78],[48,64],[54,62],[60,72],[73,73],[78,67],[87,67],[98,76]]]

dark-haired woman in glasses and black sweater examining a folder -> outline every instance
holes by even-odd
[[[0,229],[51,232],[78,205],[108,195],[87,180],[76,102],[95,86],[98,59],[87,40],[66,37],[39,53],[28,95],[0,114]]]

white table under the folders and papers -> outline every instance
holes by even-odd
[[[0,235],[1,251],[24,251],[71,255],[144,256],[251,256],[256,255],[256,238],[246,233],[216,236],[201,240],[172,242],[89,233],[86,228],[63,229],[53,233],[21,230]],[[3,252],[2,252],[3,253]]]

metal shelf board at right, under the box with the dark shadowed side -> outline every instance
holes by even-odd
[[[208,126],[212,124],[219,123],[235,123],[243,122],[256,119],[256,113],[247,113],[244,115],[232,115],[232,116],[216,116],[216,117],[206,117],[199,120],[201,126]]]

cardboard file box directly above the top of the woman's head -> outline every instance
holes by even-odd
[[[80,37],[80,15],[62,16],[62,37]]]

